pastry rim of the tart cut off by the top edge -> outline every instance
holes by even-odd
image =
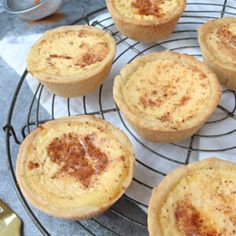
[[[186,0],[178,0],[178,8],[175,9],[173,14],[171,14],[169,17],[160,18],[160,19],[153,19],[153,20],[142,20],[142,19],[134,19],[131,17],[124,16],[119,13],[119,11],[115,8],[113,0],[106,0],[106,5],[111,13],[112,16],[114,16],[117,19],[120,19],[124,22],[133,24],[133,25],[141,25],[141,26],[155,26],[155,25],[162,25],[166,24],[176,18],[179,18],[186,6]]]

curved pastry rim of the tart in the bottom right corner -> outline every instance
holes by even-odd
[[[148,206],[148,231],[150,236],[161,236],[161,226],[159,222],[159,215],[161,213],[161,208],[169,194],[174,190],[174,188],[179,184],[179,182],[192,174],[193,172],[206,169],[234,169],[236,171],[236,164],[223,161],[217,157],[209,157],[205,160],[196,161],[187,166],[181,166],[170,172],[152,191],[152,195]]]

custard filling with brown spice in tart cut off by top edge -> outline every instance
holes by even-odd
[[[178,8],[178,0],[113,0],[115,8],[125,17],[155,20],[169,17]]]

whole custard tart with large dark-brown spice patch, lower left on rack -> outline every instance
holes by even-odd
[[[117,201],[134,174],[127,136],[88,115],[46,122],[21,144],[16,176],[35,207],[55,217],[87,219]]]

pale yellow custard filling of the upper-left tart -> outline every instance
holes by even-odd
[[[83,73],[99,67],[110,50],[107,34],[90,27],[47,33],[31,50],[28,69],[57,76]]]

